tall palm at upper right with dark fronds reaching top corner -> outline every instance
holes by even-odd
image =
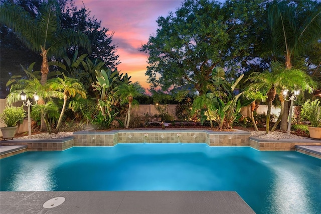
[[[285,68],[291,69],[291,59],[303,56],[321,39],[321,4],[317,1],[273,1],[268,7],[268,23],[272,31],[273,49],[283,55]],[[286,130],[288,113],[282,117]]]

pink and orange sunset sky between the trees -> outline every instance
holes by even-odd
[[[84,4],[91,11],[90,16],[101,20],[101,26],[114,32],[113,42],[118,44],[118,71],[128,73],[131,81],[139,81],[144,88],[149,88],[145,76],[148,55],[139,52],[147,43],[150,35],[156,33],[158,17],[167,17],[182,4],[176,0],[75,0],[80,9]]]

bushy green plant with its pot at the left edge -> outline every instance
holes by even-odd
[[[22,123],[26,117],[26,111],[23,106],[7,106],[3,113],[0,114],[0,121],[3,122],[6,127],[2,127],[1,132],[4,139],[14,138],[17,129],[17,123]]]

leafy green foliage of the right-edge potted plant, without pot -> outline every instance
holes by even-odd
[[[308,120],[312,127],[321,127],[321,102],[318,99],[306,100],[301,108],[301,117]]]

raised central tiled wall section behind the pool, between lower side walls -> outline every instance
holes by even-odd
[[[249,146],[247,132],[119,131],[77,132],[74,146],[114,146],[117,143],[207,143],[209,146]]]

